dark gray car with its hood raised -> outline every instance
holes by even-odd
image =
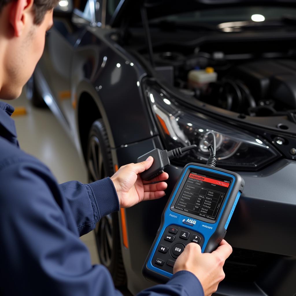
[[[206,162],[210,132],[217,166],[245,180],[216,295],[296,295],[295,40],[295,1],[59,2],[33,101],[60,120],[89,180],[154,148],[198,146],[168,168],[166,197],[98,223],[99,258],[117,286],[152,284],[141,268],[160,215],[183,166]],[[189,72],[205,68],[216,79],[192,85]]]

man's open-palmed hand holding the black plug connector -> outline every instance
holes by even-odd
[[[165,195],[168,186],[165,182],[150,184],[152,182],[164,181],[168,179],[167,173],[162,173],[150,181],[141,179],[140,173],[151,167],[153,157],[141,163],[130,163],[123,165],[111,177],[119,198],[120,207],[131,207],[143,200],[154,200]]]

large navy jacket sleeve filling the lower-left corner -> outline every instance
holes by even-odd
[[[67,201],[44,167],[0,165],[0,180],[1,295],[121,295],[107,268],[91,265]]]

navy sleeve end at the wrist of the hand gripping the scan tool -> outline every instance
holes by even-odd
[[[137,296],[204,296],[197,277],[189,271],[178,271],[162,285],[150,287]]]

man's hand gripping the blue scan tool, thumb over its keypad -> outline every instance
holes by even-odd
[[[176,260],[173,273],[180,270],[192,272],[202,284],[205,296],[210,296],[225,277],[223,265],[231,253],[232,248],[224,239],[212,253],[202,253],[200,246],[192,242]]]

